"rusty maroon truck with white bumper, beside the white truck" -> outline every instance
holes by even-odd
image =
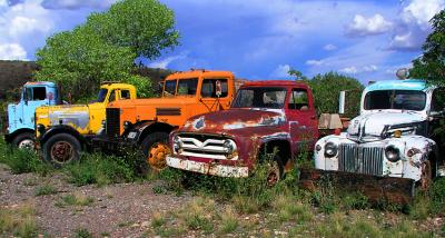
[[[268,182],[293,168],[304,146],[318,138],[313,93],[304,82],[245,83],[230,109],[188,119],[170,135],[167,165],[220,177],[248,177],[264,153],[271,155]]]

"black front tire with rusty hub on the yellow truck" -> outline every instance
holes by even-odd
[[[57,168],[80,159],[80,142],[69,133],[52,136],[44,142],[42,148],[43,159]]]

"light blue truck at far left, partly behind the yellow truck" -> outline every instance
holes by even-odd
[[[24,83],[20,101],[9,103],[3,133],[7,142],[19,148],[34,148],[34,112],[38,107],[60,105],[61,96],[53,82]]]

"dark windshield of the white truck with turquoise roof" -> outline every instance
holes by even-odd
[[[426,105],[426,93],[415,90],[377,90],[365,96],[366,110],[400,109],[422,111]]]

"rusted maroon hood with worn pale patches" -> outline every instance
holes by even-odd
[[[279,126],[285,120],[281,109],[228,109],[192,117],[187,120],[181,131],[229,135],[244,130],[255,132],[264,127]]]

